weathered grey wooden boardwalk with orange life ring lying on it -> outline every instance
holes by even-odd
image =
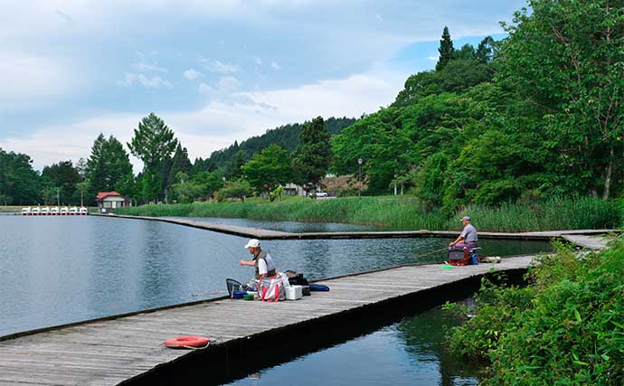
[[[219,347],[227,344],[253,342],[276,332],[283,332],[281,339],[288,340],[288,331],[321,321],[339,324],[350,312],[363,312],[365,318],[380,312],[375,306],[426,299],[432,297],[431,288],[464,283],[492,268],[524,269],[532,258],[451,269],[442,265],[389,268],[321,280],[319,283],[331,287],[330,292],[315,292],[297,301],[219,298],[35,334],[8,335],[0,337],[0,384],[114,385],[136,377],[140,380],[141,374],[153,372],[156,366],[162,370],[165,363],[189,361],[200,353],[219,352]],[[449,292],[444,290],[444,294]],[[436,300],[443,301],[441,297]],[[210,337],[213,344],[193,352],[162,345],[167,338],[194,334]]]

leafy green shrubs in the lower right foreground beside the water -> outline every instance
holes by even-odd
[[[624,240],[583,257],[557,249],[528,287],[484,280],[476,317],[450,331],[453,353],[490,363],[484,384],[624,384]]]

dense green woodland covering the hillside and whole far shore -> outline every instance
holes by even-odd
[[[0,202],[90,202],[117,190],[136,202],[191,202],[315,188],[326,173],[357,173],[365,194],[401,192],[429,207],[621,197],[624,187],[624,3],[530,1],[507,37],[456,48],[449,28],[433,71],[409,77],[394,102],[359,119],[314,118],[267,131],[192,163],[156,115],[135,129],[131,154],[98,137],[88,160],[33,171],[0,151]],[[353,193],[353,190],[336,192]],[[267,196],[272,196],[267,194]]]

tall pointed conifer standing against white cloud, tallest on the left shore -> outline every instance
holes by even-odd
[[[128,148],[132,155],[143,161],[143,193],[147,202],[162,197],[165,187],[164,162],[175,151],[176,146],[174,132],[156,114],[150,113],[138,123]]]

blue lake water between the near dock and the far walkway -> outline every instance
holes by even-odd
[[[283,229],[306,226],[291,223]],[[237,264],[250,257],[245,242],[158,221],[0,216],[0,335],[184,303],[201,298],[194,297],[197,294],[223,291],[225,278],[241,282],[251,278],[252,268]],[[325,278],[443,261],[444,252],[424,254],[446,243],[440,239],[274,240],[262,245],[279,269]],[[541,242],[500,240],[484,240],[482,246],[486,255],[548,249]]]

